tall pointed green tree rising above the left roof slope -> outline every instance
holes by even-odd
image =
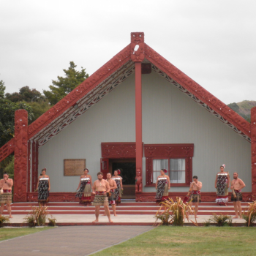
[[[86,73],[86,69],[83,69],[83,67],[81,67],[81,71],[77,71],[75,69],[77,66],[73,61],[70,61],[69,65],[69,69],[63,69],[65,76],[58,76],[58,80],[52,80],[53,85],[49,86],[50,91],[43,91],[50,105],[55,105],[69,94],[70,91],[86,80],[86,78],[89,78],[89,74]]]

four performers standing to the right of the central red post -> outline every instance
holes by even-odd
[[[219,206],[227,206],[228,189],[230,187],[230,189],[232,190],[231,201],[233,202],[236,214],[236,216],[233,218],[241,218],[241,201],[243,200],[241,189],[245,187],[244,181],[242,181],[241,178],[238,178],[238,173],[235,172],[233,173],[233,181],[231,181],[230,186],[230,175],[228,172],[225,172],[224,170],[225,165],[222,165],[215,179],[215,188],[217,189],[216,203]],[[168,190],[170,189],[170,178],[165,173],[167,173],[167,170],[162,169],[160,171],[160,175],[157,177],[157,194],[155,197],[157,203],[168,199]],[[200,189],[202,189],[202,185],[202,182],[198,181],[197,176],[193,176],[193,181],[191,182],[189,187],[189,193],[187,194],[187,197],[184,198],[184,202],[189,201],[189,205],[193,204],[195,206],[196,218],[198,205],[201,202]]]

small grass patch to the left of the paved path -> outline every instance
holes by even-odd
[[[26,236],[37,233],[43,230],[48,230],[53,227],[19,227],[19,228],[0,228],[0,241],[15,238],[17,236]],[[1,249],[0,249],[1,251]]]

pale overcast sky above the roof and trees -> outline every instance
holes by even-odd
[[[226,104],[256,100],[256,1],[2,1],[0,80],[42,92],[74,61],[93,74],[145,42]]]

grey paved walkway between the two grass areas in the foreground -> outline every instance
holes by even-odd
[[[5,256],[84,256],[126,241],[154,227],[78,226],[56,227],[0,242]]]

